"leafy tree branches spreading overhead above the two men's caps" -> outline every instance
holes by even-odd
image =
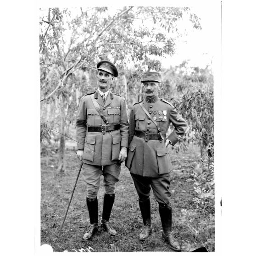
[[[160,70],[160,61],[152,56],[173,55],[174,38],[184,33],[178,31],[178,21],[190,15],[191,25],[200,28],[198,18],[187,7],[49,8],[41,13],[43,100],[61,93],[64,81],[75,70],[95,70],[96,62],[102,58],[114,61],[121,71],[129,63],[134,63],[136,69]]]

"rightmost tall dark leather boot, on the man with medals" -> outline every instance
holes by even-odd
[[[173,238],[171,234],[172,229],[172,207],[166,204],[159,204],[159,214],[161,217],[161,223],[163,228],[162,238],[167,242],[167,244],[176,251],[181,251],[180,245]]]

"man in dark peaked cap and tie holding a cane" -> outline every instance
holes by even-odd
[[[100,176],[104,176],[104,202],[102,228],[111,235],[109,217],[115,199],[115,184],[120,174],[120,164],[127,157],[128,120],[126,103],[122,96],[110,92],[118,72],[110,61],[97,64],[98,89],[82,97],[77,112],[77,157],[83,161],[82,174],[86,182],[86,203],[90,226],[83,235],[89,240],[98,231],[98,200]]]

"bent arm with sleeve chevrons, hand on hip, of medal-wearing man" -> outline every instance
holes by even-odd
[[[170,110],[169,120],[173,123],[174,130],[167,139],[170,140],[172,145],[175,145],[185,134],[188,124],[174,107]]]

